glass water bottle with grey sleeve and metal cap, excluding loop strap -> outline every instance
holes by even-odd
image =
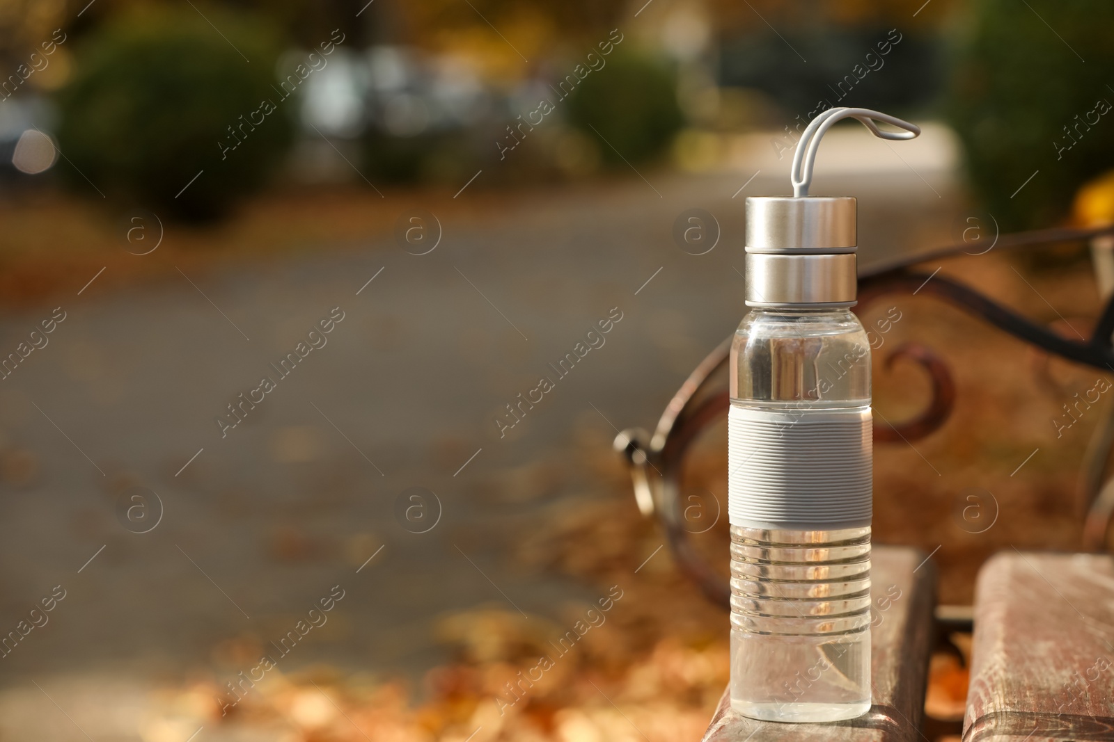
[[[870,344],[853,198],[746,199],[731,349],[731,703],[780,722],[870,708]]]

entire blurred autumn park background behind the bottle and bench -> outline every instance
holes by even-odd
[[[745,197],[858,106],[924,128],[825,138],[863,265],[1110,221],[1112,29],[1098,0],[0,0],[0,740],[698,739],[726,615],[610,442],[745,314]],[[1088,256],[926,267],[1085,333]],[[958,397],[876,448],[874,537],[969,604],[995,551],[1079,548],[1098,414],[1056,419],[1095,374],[926,296],[862,319],[890,307]],[[887,353],[905,419],[929,383]],[[726,575],[724,438],[690,478]],[[937,663],[936,718],[964,672]]]

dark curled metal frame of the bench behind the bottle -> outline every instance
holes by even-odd
[[[1072,340],[1047,326],[1034,323],[1020,314],[979,294],[961,283],[935,274],[919,273],[913,266],[929,260],[959,255],[979,256],[991,249],[1016,249],[1055,243],[1096,240],[1114,235],[1114,226],[1098,229],[1043,229],[1003,235],[990,248],[973,253],[970,244],[951,245],[922,253],[899,261],[859,271],[859,307],[895,291],[924,291],[942,298],[960,309],[980,317],[1014,337],[1049,355],[1114,373],[1114,296],[1107,297],[1091,337]],[[1097,241],[1097,240],[1096,240]],[[1095,243],[1093,243],[1094,245]],[[1094,250],[1096,265],[1106,275],[1114,271],[1114,251]],[[931,280],[929,280],[931,279]],[[727,412],[727,337],[705,357],[673,395],[657,422],[653,436],[641,428],[628,428],[615,438],[615,449],[627,462],[634,482],[635,499],[643,515],[656,516],[665,531],[673,555],[681,570],[693,580],[709,600],[724,609],[730,606],[730,588],[701,556],[690,541],[681,502],[681,482],[685,454],[691,444],[709,425]],[[876,426],[874,441],[916,441],[938,429],[948,418],[955,403],[955,383],[947,365],[931,349],[908,343],[895,349],[886,359],[890,365],[898,358],[918,363],[931,377],[932,397],[925,410],[911,421],[897,425]],[[1104,405],[1083,463],[1077,507],[1086,513],[1083,546],[1089,551],[1105,548],[1106,534],[1114,520],[1114,476],[1105,484],[1102,476],[1114,447],[1114,405]],[[938,615],[938,621],[948,619]],[[969,622],[952,620],[956,627]]]

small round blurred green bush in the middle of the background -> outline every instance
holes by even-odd
[[[574,127],[610,144],[599,142],[604,164],[610,166],[626,167],[623,158],[638,162],[658,156],[684,123],[671,71],[625,50],[616,50],[603,69],[589,73],[567,105]]]

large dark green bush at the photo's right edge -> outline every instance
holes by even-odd
[[[947,109],[971,182],[1004,229],[1048,226],[1114,167],[1114,111],[1091,113],[1114,102],[1114,3],[974,0],[968,12]]]

